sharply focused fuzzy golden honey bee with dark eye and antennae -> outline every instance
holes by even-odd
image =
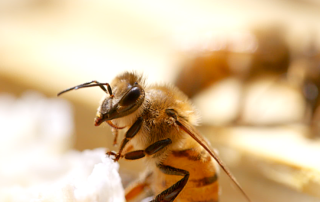
[[[58,95],[95,86],[107,94],[98,108],[95,125],[107,122],[114,130],[128,128],[119,152],[107,154],[114,161],[145,158],[149,167],[144,179],[126,189],[127,201],[134,200],[145,188],[154,193],[154,202],[218,201],[217,163],[250,201],[216,152],[195,129],[195,110],[187,96],[176,87],[147,86],[142,75],[125,72],[111,84],[87,82]]]

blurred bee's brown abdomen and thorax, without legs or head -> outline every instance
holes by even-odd
[[[265,74],[285,74],[290,52],[280,33],[266,29],[213,37],[213,43],[207,42],[205,50],[196,50],[191,61],[182,67],[176,86],[193,98],[230,76],[250,80]]]

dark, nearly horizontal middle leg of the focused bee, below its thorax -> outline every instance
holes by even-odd
[[[170,138],[159,140],[153,143],[152,145],[148,146],[145,150],[136,150],[136,151],[126,153],[124,155],[124,158],[128,160],[136,160],[136,159],[143,158],[146,155],[153,155],[171,143],[172,141]]]

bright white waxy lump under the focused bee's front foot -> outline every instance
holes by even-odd
[[[119,165],[104,148],[70,150],[70,105],[27,92],[0,95],[0,201],[125,201]]]

